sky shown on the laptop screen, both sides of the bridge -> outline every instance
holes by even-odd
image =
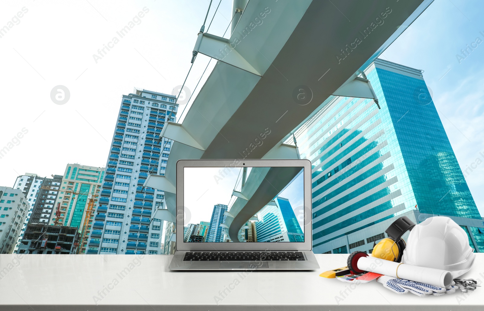
[[[186,213],[185,226],[188,224],[198,224],[200,221],[210,222],[212,218],[213,206],[215,204],[233,203],[235,197],[231,199],[232,191],[237,182],[236,190],[241,187],[241,169],[233,168],[226,170],[227,173],[221,174],[223,168],[185,168],[184,178],[184,206],[189,210]],[[247,178],[250,169],[247,171]],[[215,180],[214,176],[222,178]],[[225,176],[225,177],[222,177]],[[238,181],[237,181],[238,180]],[[303,205],[303,175],[300,174],[291,184],[280,193],[280,197],[287,198],[291,203],[292,209],[298,218],[303,229],[302,205]],[[230,202],[230,204],[229,204]],[[298,217],[299,216],[299,217]],[[309,215],[308,217],[310,217]]]

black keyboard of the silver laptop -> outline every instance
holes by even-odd
[[[186,252],[184,261],[306,260],[302,252]]]

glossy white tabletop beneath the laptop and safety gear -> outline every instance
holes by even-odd
[[[170,255],[18,256],[0,255],[1,311],[484,310],[484,287],[417,297],[394,294],[375,281],[350,291],[352,284],[319,277],[345,266],[347,254],[317,254],[316,271],[249,270],[244,278],[240,271],[171,272]],[[464,277],[484,281],[484,254]],[[228,286],[233,289],[222,297],[219,291]],[[101,297],[104,288],[111,289]]]

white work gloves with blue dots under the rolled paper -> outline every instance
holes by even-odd
[[[455,283],[449,287],[439,287],[430,284],[413,282],[405,279],[399,279],[388,275],[382,275],[377,279],[378,283],[382,283],[384,287],[393,291],[394,293],[403,295],[408,292],[420,296],[427,297],[430,295],[442,296],[445,293],[452,294],[455,292]]]

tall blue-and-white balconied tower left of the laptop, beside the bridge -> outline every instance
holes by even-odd
[[[159,134],[175,121],[175,96],[147,90],[123,95],[94,212],[86,254],[160,254],[164,192],[142,188],[148,174],[164,175],[171,141]]]

